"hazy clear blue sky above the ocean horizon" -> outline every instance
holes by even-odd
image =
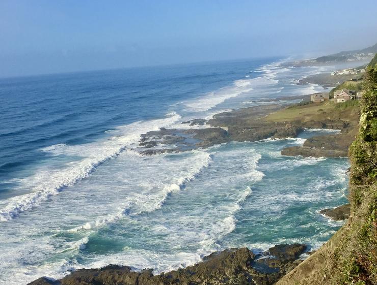
[[[375,44],[376,15],[375,0],[2,0],[0,76],[321,55]]]

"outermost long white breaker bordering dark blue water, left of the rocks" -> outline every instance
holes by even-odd
[[[23,179],[31,193],[9,198],[7,206],[0,210],[0,221],[7,221],[19,213],[30,210],[40,203],[48,200],[52,195],[59,194],[65,187],[88,177],[102,163],[113,159],[126,149],[131,143],[136,142],[140,135],[151,130],[158,130],[179,120],[180,116],[174,114],[164,119],[139,121],[129,125],[120,126],[117,136],[102,142],[84,145],[68,146],[58,144],[42,149],[56,155],[72,154],[84,157],[75,162],[68,162],[63,168],[37,169],[31,177]]]

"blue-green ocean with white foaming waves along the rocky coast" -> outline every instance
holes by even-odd
[[[326,242],[342,222],[318,211],[347,202],[348,159],[280,150],[336,131],[133,150],[148,131],[323,91],[294,80],[334,68],[281,60],[0,79],[0,284],[107,264],[167,272],[229,247]]]

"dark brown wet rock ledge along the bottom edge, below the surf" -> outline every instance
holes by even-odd
[[[39,278],[29,285],[172,285],[172,284],[274,284],[301,263],[304,244],[276,245],[255,255],[248,248],[214,252],[203,262],[184,269],[153,275],[151,269],[134,272],[128,266],[109,265],[81,269],[61,280]]]

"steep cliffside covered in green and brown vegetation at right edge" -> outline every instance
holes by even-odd
[[[367,67],[360,128],[349,155],[351,214],[324,246],[292,270],[285,284],[377,284],[377,55]]]

